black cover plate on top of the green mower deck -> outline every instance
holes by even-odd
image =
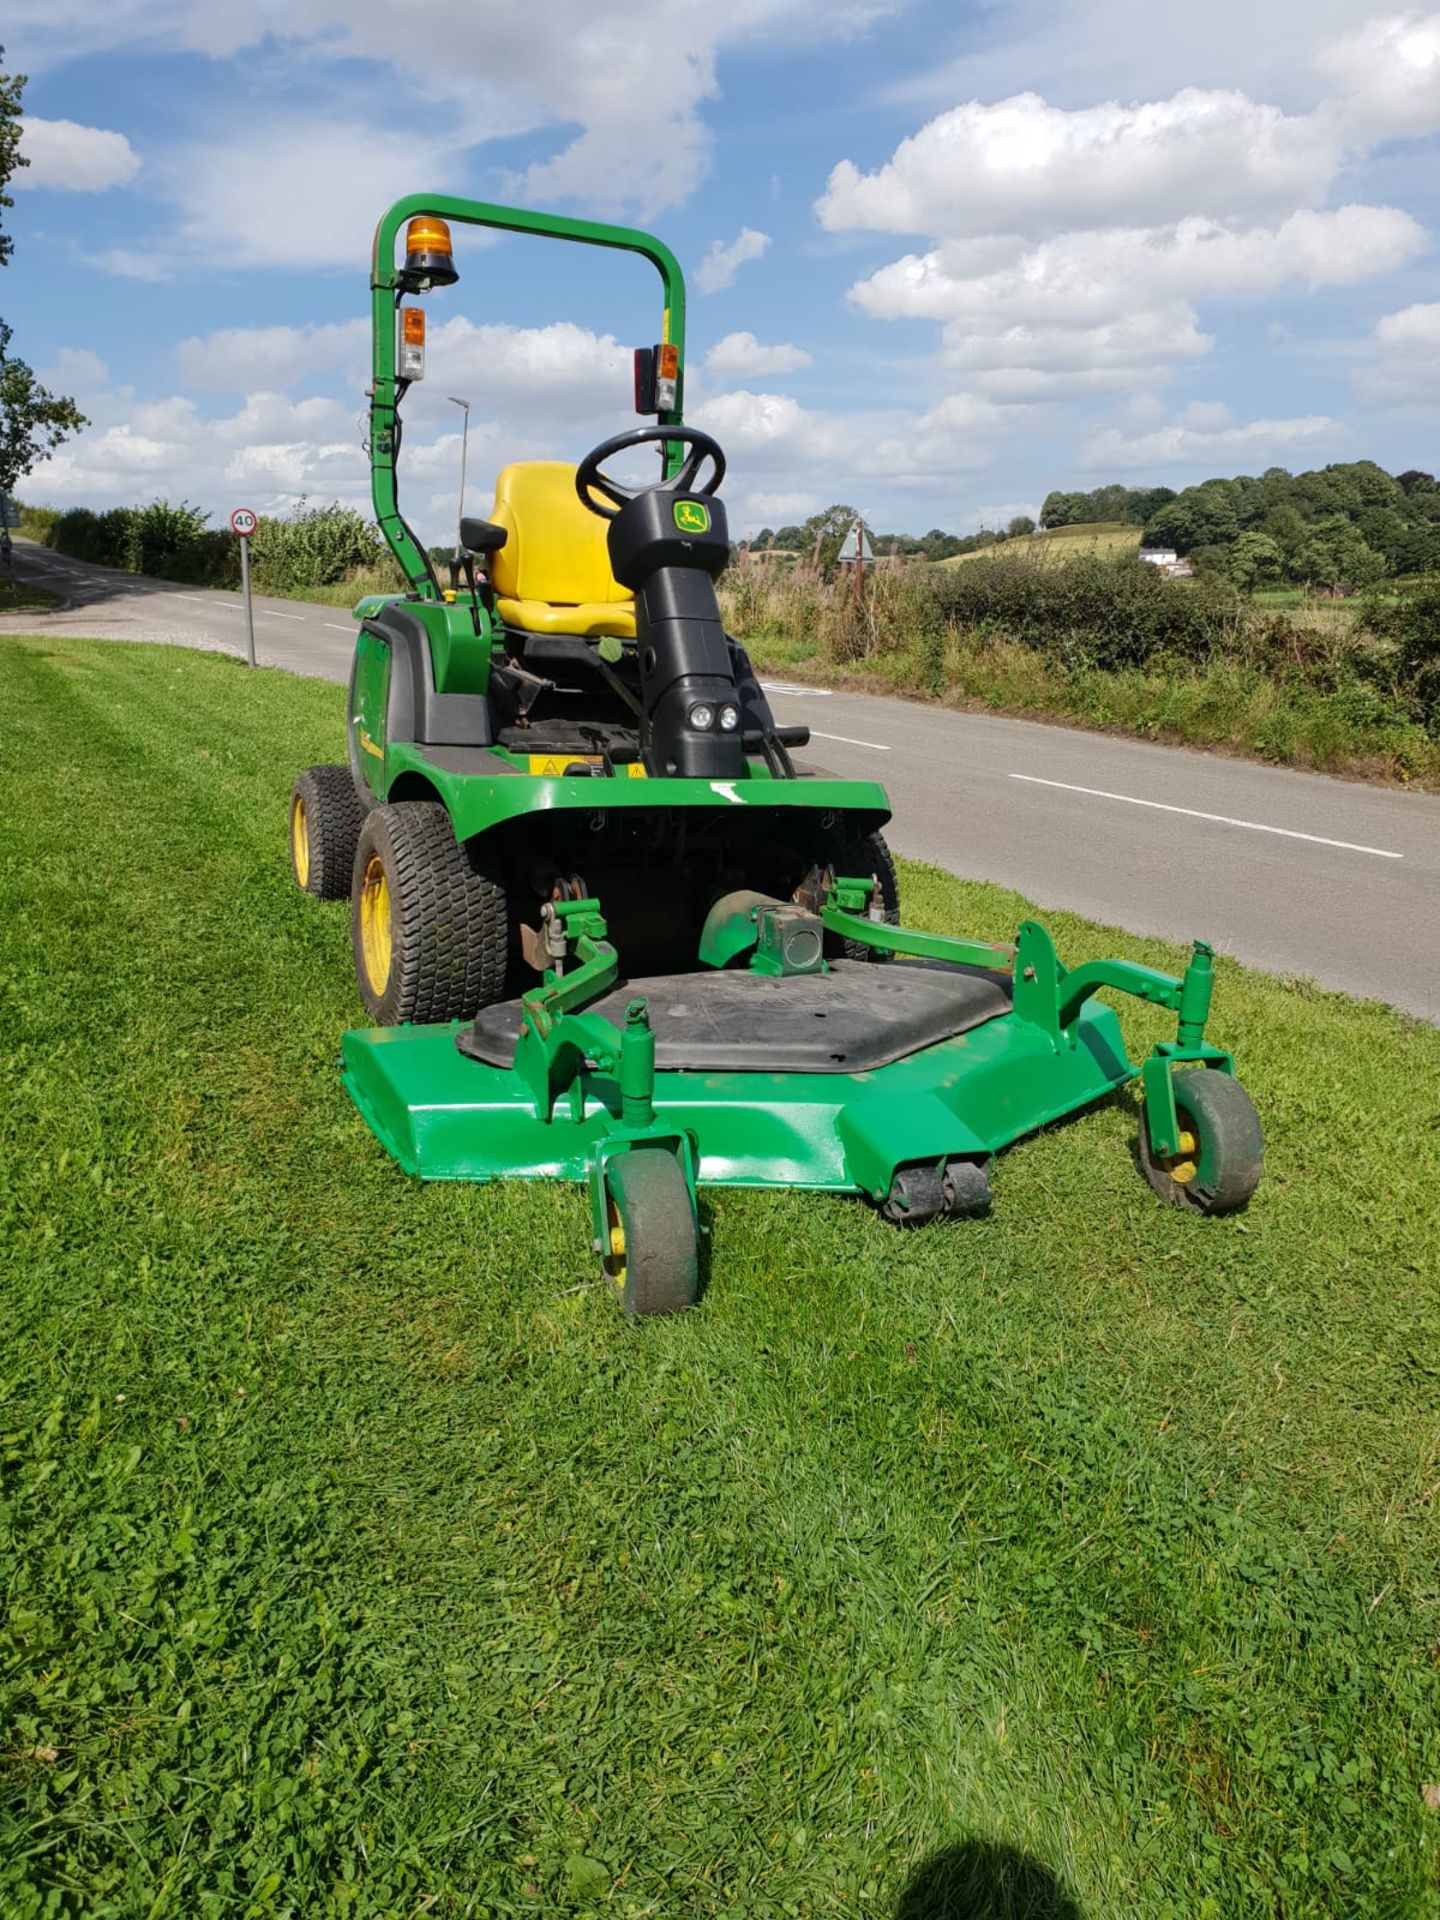
[[[664,973],[622,981],[586,1012],[624,1023],[645,996],[662,1073],[864,1073],[1010,1012],[1010,979],[935,960],[833,960],[829,973]],[[520,1002],[488,1006],[457,1046],[509,1068]]]

